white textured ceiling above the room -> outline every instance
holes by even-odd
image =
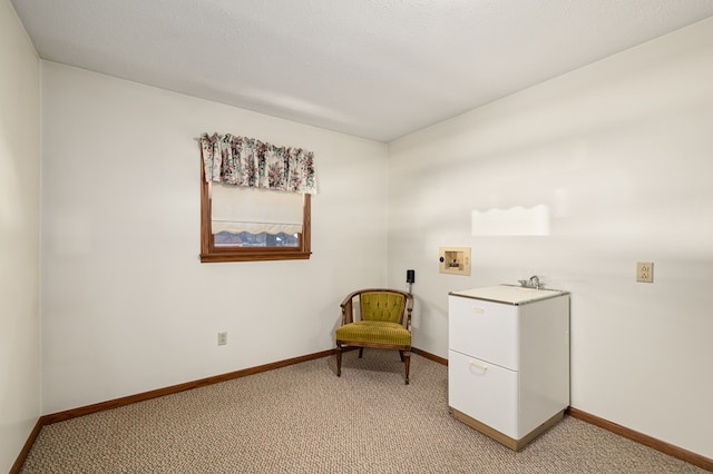
[[[713,0],[11,2],[42,59],[385,142],[713,16]]]

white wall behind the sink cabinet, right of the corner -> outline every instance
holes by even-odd
[[[447,357],[449,290],[540,275],[572,292],[572,405],[713,457],[712,85],[713,19],[390,144],[414,345]],[[471,210],[538,204],[548,237],[470,235]],[[471,276],[439,246],[471,247]]]

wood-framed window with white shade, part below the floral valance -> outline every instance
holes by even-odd
[[[309,259],[310,198],[201,179],[201,261]]]

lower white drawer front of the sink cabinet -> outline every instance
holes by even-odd
[[[519,440],[518,373],[448,352],[448,405]]]

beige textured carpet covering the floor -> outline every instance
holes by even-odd
[[[296,364],[45,426],[23,473],[704,473],[566,416],[515,453],[448,412],[448,371],[397,352]]]

